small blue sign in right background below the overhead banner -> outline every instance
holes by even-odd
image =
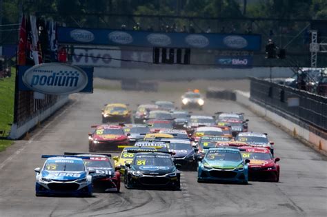
[[[216,56],[216,64],[219,66],[251,67],[252,56]]]

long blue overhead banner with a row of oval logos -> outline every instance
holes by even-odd
[[[182,32],[122,31],[93,28],[58,28],[58,43],[128,45],[140,47],[252,50],[261,48],[259,34],[189,34]]]

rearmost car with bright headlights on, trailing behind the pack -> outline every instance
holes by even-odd
[[[204,98],[199,93],[199,90],[188,91],[181,96],[181,108],[197,108],[202,110],[204,106]]]

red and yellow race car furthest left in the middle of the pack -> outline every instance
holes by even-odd
[[[119,125],[92,125],[95,131],[88,134],[89,152],[99,150],[117,151],[117,145],[129,144],[129,133],[123,132]]]

